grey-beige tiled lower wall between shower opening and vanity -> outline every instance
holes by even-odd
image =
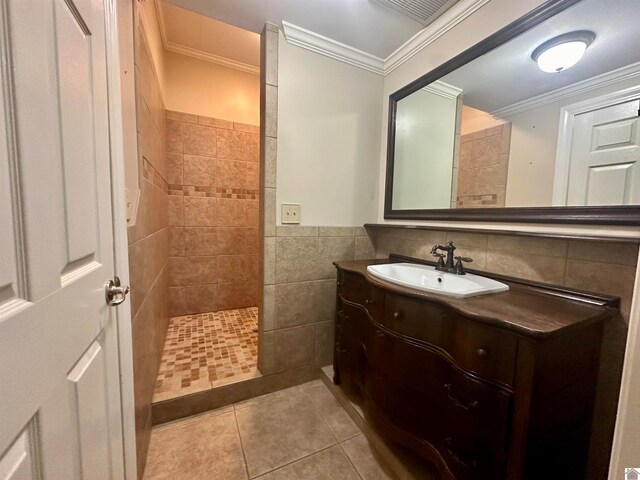
[[[373,258],[362,227],[277,227],[265,257],[260,370],[276,373],[333,358],[336,260]]]

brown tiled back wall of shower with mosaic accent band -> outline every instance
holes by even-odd
[[[167,112],[171,315],[258,304],[259,132]]]

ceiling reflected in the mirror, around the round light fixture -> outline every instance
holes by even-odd
[[[463,89],[465,105],[494,112],[640,62],[638,13],[639,0],[582,0],[442,80]],[[560,73],[542,72],[531,52],[545,40],[575,30],[596,34],[583,59]]]

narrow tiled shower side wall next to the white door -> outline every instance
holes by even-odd
[[[139,18],[136,20],[136,102],[140,204],[128,228],[133,372],[138,475],[142,475],[151,433],[151,400],[169,314],[168,184],[165,110]]]

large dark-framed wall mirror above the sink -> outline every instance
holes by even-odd
[[[637,13],[549,1],[392,94],[385,218],[639,225]],[[567,40],[582,59],[542,71]]]

